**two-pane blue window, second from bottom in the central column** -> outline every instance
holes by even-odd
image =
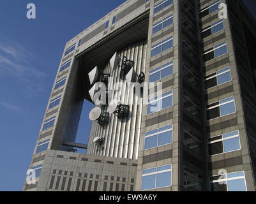
[[[144,149],[152,149],[172,143],[172,125],[147,132]]]

